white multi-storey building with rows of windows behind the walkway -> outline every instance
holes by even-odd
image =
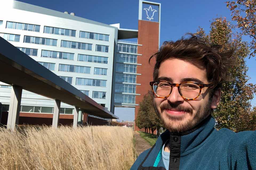
[[[9,0],[0,6],[0,36],[112,113],[114,107],[138,105],[142,44],[122,41],[138,38],[138,30]],[[0,82],[0,111],[8,111],[10,87]],[[52,99],[23,90],[21,112],[51,114],[53,107]],[[61,103],[61,114],[73,112],[73,106]]]

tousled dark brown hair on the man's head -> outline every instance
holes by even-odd
[[[220,52],[221,45],[207,45],[203,40],[198,39],[193,34],[191,37],[183,37],[177,41],[165,41],[157,53],[149,58],[155,57],[154,81],[158,78],[158,70],[161,63],[170,58],[178,58],[188,62],[203,62],[207,79],[212,84],[212,88],[222,88],[222,83],[230,80],[229,67],[234,63],[232,54],[234,48],[227,52]]]

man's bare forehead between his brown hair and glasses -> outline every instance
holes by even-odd
[[[197,80],[198,83],[207,83],[207,73],[202,62],[188,62],[179,59],[168,59],[161,63],[158,70],[158,78],[175,81]],[[199,80],[199,81],[198,81]],[[201,81],[201,82],[200,82]]]

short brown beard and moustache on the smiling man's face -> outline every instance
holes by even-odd
[[[196,125],[202,122],[206,117],[211,114],[212,109],[210,108],[211,100],[208,101],[204,107],[201,105],[198,108],[196,113],[193,113],[193,109],[189,107],[184,107],[180,104],[173,104],[173,103],[165,103],[160,106],[160,113],[157,109],[157,106],[154,102],[155,112],[160,120],[163,122],[163,125],[166,129],[170,132],[185,132],[190,129],[193,129]],[[185,114],[189,114],[190,118],[186,119],[186,115],[182,116],[173,116],[166,113],[167,110],[175,109],[178,111],[186,112]],[[194,116],[194,117],[193,117]]]

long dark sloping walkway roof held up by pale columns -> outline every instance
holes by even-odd
[[[58,99],[102,118],[118,119],[80,90],[0,37],[0,81],[24,90]]]

